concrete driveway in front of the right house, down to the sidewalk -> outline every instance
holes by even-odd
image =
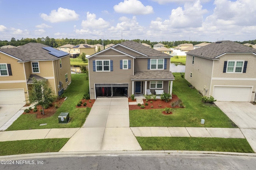
[[[239,128],[256,129],[256,105],[249,102],[214,102]]]

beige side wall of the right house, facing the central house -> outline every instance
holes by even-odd
[[[192,64],[192,55],[186,57],[186,70],[185,79],[192,84],[198,91],[205,94],[205,89],[208,92],[205,94],[209,96],[210,83],[212,77],[212,66],[213,60],[204,59],[201,57],[194,57],[194,65]],[[214,61],[215,65],[215,61]],[[192,78],[190,78],[190,73],[192,72]],[[174,82],[175,83],[175,82]]]

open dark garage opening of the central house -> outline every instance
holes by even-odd
[[[127,96],[128,84],[95,84],[96,97]]]

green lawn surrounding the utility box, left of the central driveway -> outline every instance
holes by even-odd
[[[36,119],[34,114],[21,115],[7,130],[81,127],[90,113],[90,108],[76,108],[76,104],[82,99],[84,93],[89,90],[89,82],[86,77],[86,74],[72,74],[72,82],[63,94],[68,98],[54,115],[43,119]],[[69,123],[58,123],[58,116],[61,112],[69,112],[71,118]],[[47,125],[39,126],[43,123],[47,123]]]

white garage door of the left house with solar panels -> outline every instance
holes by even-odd
[[[24,89],[0,90],[0,105],[23,103],[26,103]]]

